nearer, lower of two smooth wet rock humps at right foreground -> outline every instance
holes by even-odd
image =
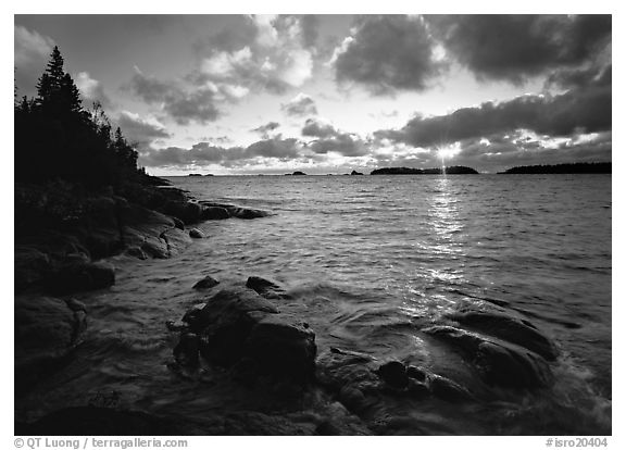
[[[452,326],[434,326],[424,332],[454,346],[489,385],[529,388],[553,382],[543,358],[514,343]]]

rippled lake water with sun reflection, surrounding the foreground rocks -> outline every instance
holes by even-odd
[[[172,182],[200,200],[273,215],[205,222],[208,238],[171,260],[118,257],[116,286],[83,298],[91,322],[77,361],[24,399],[18,415],[101,399],[190,416],[233,407],[233,396],[172,374],[175,336],[163,323],[197,301],[190,286],[204,275],[260,275],[293,295],[283,309],[306,318],[320,347],[381,360],[427,361],[412,330],[461,298],[506,301],[559,346],[555,386],[408,414],[437,434],[611,433],[610,175]]]

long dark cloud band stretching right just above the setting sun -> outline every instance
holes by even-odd
[[[611,129],[611,88],[591,86],[553,97],[524,96],[501,103],[487,102],[442,116],[416,116],[399,130],[381,130],[376,136],[431,147],[516,129],[548,136],[603,132]]]

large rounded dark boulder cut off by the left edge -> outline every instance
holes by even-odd
[[[16,390],[53,371],[79,343],[86,314],[78,303],[53,297],[15,298]]]

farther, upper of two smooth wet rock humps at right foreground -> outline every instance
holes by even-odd
[[[530,322],[500,312],[462,311],[450,318],[502,340],[524,347],[548,361],[554,361],[558,351],[552,342]]]

